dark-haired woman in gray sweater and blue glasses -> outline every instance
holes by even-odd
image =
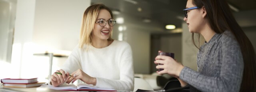
[[[156,56],[158,74],[175,76],[181,86],[203,92],[256,92],[255,52],[225,0],[188,0],[184,21],[189,32],[204,37],[198,71],[168,56]]]

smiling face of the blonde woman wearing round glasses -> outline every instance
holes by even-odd
[[[98,13],[98,17],[96,19],[96,22],[99,22],[100,19],[109,20],[111,19],[111,15],[106,9],[102,9]],[[107,40],[110,36],[110,33],[112,32],[113,26],[110,26],[108,24],[108,21],[105,26],[100,26],[99,23],[94,24],[94,28],[92,31],[92,39],[98,39],[98,40]]]

